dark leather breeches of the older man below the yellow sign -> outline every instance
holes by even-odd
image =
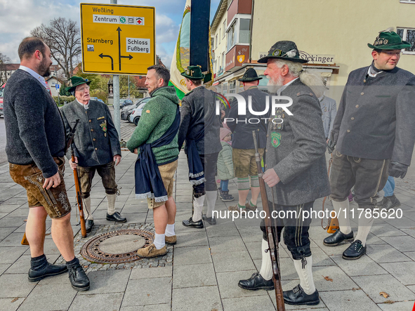
[[[98,166],[78,166],[79,184],[81,185],[82,197],[84,199],[89,197],[89,192],[91,192],[92,180],[93,176],[95,176],[95,171],[97,171],[98,175],[101,176],[103,186],[105,187],[105,193],[116,194],[118,188],[117,183],[115,183],[114,162],[110,162]]]

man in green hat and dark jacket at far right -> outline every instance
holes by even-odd
[[[378,218],[378,191],[388,175],[404,178],[415,143],[415,76],[396,67],[402,48],[411,44],[389,28],[367,45],[373,48],[373,61],[349,74],[327,145],[334,151],[331,199],[340,228],[324,239],[324,245],[353,241],[343,252],[345,260],[366,253],[367,236]],[[364,211],[355,213],[359,227],[354,239],[348,218],[353,186],[355,201]]]

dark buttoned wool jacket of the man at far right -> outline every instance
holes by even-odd
[[[349,74],[334,119],[336,150],[409,166],[415,143],[415,76],[398,67],[376,77],[368,70]]]

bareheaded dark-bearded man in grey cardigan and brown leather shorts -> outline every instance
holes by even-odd
[[[20,67],[4,91],[6,154],[10,175],[27,190],[29,216],[29,282],[69,270],[74,289],[87,291],[89,279],[74,254],[65,171],[65,128],[58,107],[46,91],[44,77],[51,74],[51,50],[41,39],[27,37],[19,46]],[[52,265],[44,254],[46,217],[52,219],[52,239],[66,265]],[[57,294],[59,294],[57,292]]]

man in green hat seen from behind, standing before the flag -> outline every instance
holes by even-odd
[[[189,66],[185,72],[187,89],[190,91],[182,100],[178,147],[186,140],[185,152],[189,165],[189,180],[193,186],[195,211],[185,227],[203,228],[202,209],[206,195],[207,212],[205,220],[216,225],[213,211],[216,203],[216,161],[222,150],[220,145],[220,115],[216,115],[216,95],[202,86],[204,74],[199,66]]]

